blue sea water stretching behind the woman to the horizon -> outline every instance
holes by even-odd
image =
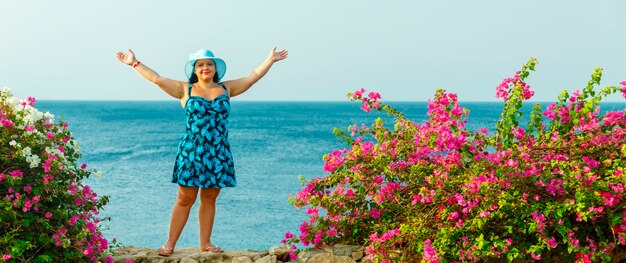
[[[391,103],[409,118],[426,118],[425,102]],[[611,104],[610,108],[624,108]],[[501,103],[462,103],[470,109],[468,128],[493,130]],[[529,105],[529,109],[532,105]],[[68,121],[88,168],[102,172],[89,178],[99,195],[111,201],[101,216],[107,238],[124,245],[160,247],[167,239],[177,185],[170,182],[176,146],[185,127],[178,101],[37,102]],[[305,218],[288,196],[301,189],[298,176],[323,176],[322,156],[343,148],[334,127],[371,124],[379,113],[364,113],[350,102],[232,101],[229,119],[237,187],[222,190],[212,242],[225,249],[268,249],[287,230],[296,232]],[[199,244],[198,202],[177,247]]]

